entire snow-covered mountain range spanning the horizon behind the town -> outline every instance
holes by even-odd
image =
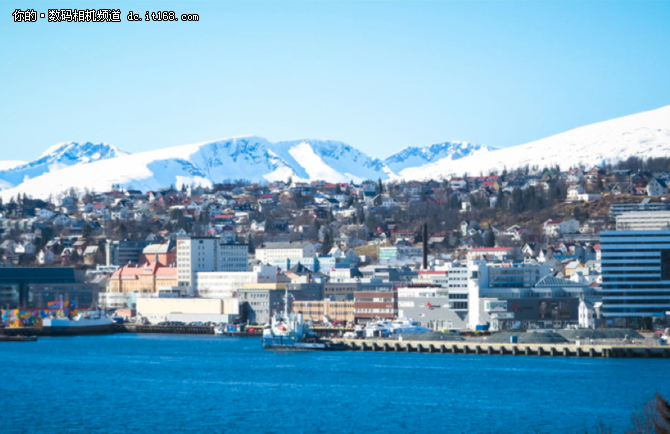
[[[0,170],[0,197],[6,200],[19,193],[47,197],[71,187],[106,191],[112,184],[146,191],[235,179],[425,180],[526,165],[592,166],[630,156],[670,156],[670,106],[505,149],[445,142],[408,147],[384,161],[331,140],[273,143],[243,136],[132,155],[106,144],[61,143],[36,161]]]

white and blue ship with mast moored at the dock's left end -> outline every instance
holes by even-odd
[[[344,345],[319,339],[305,324],[301,313],[288,312],[288,289],[284,295],[284,312],[273,316],[270,324],[263,328],[263,348],[289,351],[345,349]]]

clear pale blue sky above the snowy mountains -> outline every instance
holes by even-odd
[[[122,23],[13,23],[15,8]],[[199,22],[127,22],[133,10]],[[670,2],[0,3],[0,160],[243,134],[386,157],[512,146],[670,104]]]

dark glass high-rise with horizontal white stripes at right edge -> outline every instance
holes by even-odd
[[[602,312],[615,326],[667,324],[670,230],[602,231]]]

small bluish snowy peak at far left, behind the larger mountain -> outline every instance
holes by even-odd
[[[47,149],[40,157],[29,163],[0,167],[0,190],[10,189],[28,179],[39,177],[77,164],[106,160],[126,155],[107,143],[58,143]]]

